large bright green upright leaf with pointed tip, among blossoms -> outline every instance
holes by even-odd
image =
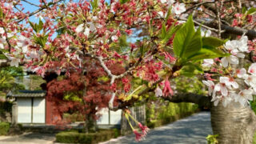
[[[194,32],[194,22],[190,15],[187,22],[177,31],[174,38],[174,54],[177,58],[187,58],[196,54],[202,47],[200,29]]]

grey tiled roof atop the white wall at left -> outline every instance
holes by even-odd
[[[45,97],[45,90],[19,90],[18,92],[10,91],[7,97],[19,97],[19,98],[34,98],[34,97]]]

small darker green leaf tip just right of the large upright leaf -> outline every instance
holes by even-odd
[[[203,37],[202,38],[202,46],[213,46],[218,47],[222,46],[224,42],[219,38],[214,37]]]

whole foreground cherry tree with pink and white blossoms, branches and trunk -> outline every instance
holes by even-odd
[[[25,13],[22,2],[37,6]],[[1,66],[24,65],[47,72],[86,74],[98,63],[110,89],[110,110],[126,110],[145,94],[170,102],[194,102],[211,112],[220,143],[251,143],[256,117],[255,12],[250,0],[27,0],[0,4]],[[30,22],[37,16],[38,22]],[[196,26],[195,26],[196,25]],[[93,60],[92,60],[93,59]],[[115,69],[125,69],[115,74]],[[95,68],[95,67],[94,67]],[[173,78],[202,76],[208,94],[177,94]],[[136,81],[139,79],[139,82]],[[121,83],[120,83],[121,82]],[[134,83],[138,85],[135,85]]]

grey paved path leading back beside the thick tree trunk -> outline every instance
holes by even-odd
[[[206,136],[212,134],[210,113],[201,112],[169,125],[150,130],[142,144],[202,144]],[[111,139],[101,144],[135,144],[134,134]]]

